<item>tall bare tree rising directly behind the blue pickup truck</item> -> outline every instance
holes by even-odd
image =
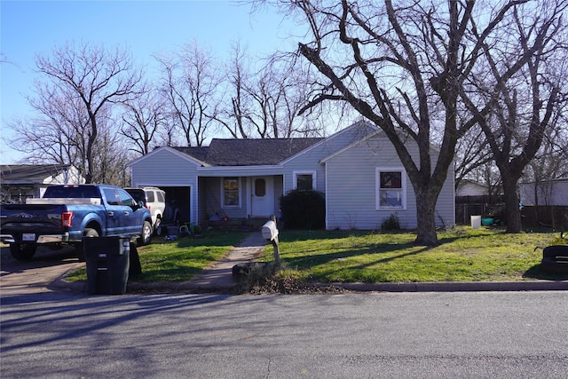
[[[43,127],[57,140],[57,133],[69,130],[56,146],[43,144],[43,151],[64,151],[74,146],[77,159],[86,162],[85,179],[94,177],[94,146],[99,137],[99,117],[112,112],[109,107],[138,96],[141,74],[132,67],[127,51],[85,43],[55,47],[51,56],[39,55],[36,66],[44,82],[36,84],[36,110],[43,113]],[[34,104],[33,104],[34,106]],[[33,128],[28,128],[28,131]],[[84,138],[84,140],[83,140]],[[63,140],[64,139],[64,140]],[[84,144],[83,144],[84,142]],[[68,154],[71,154],[70,152]]]

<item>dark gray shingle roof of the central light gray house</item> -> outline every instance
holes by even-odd
[[[257,166],[278,164],[324,138],[214,138],[208,147],[175,147],[212,166]]]

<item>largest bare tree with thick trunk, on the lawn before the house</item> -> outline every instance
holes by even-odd
[[[299,43],[298,51],[320,80],[305,108],[347,102],[384,131],[414,187],[416,243],[437,245],[435,207],[457,140],[489,111],[465,117],[459,94],[484,53],[485,39],[517,2],[490,8],[451,0],[279,3],[299,12],[311,29],[312,41]],[[479,36],[472,35],[472,27],[482,23]]]

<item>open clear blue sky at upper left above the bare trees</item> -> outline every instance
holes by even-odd
[[[290,24],[275,12],[250,14],[248,5],[230,1],[0,1],[0,138],[6,124],[30,115],[26,95],[32,93],[37,53],[56,45],[104,43],[125,46],[135,62],[149,65],[152,54],[179,51],[196,40],[225,59],[231,43],[240,41],[250,54],[293,48]],[[22,157],[0,142],[0,163]]]

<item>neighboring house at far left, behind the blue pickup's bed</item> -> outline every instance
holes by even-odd
[[[2,164],[2,202],[25,202],[41,197],[45,188],[60,184],[81,184],[85,179],[69,164]]]

